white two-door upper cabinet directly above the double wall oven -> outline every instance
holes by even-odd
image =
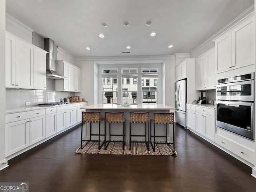
[[[214,40],[216,73],[255,63],[254,31],[254,16],[251,15]]]

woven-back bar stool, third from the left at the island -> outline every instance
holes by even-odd
[[[145,124],[145,135],[132,135],[132,123],[144,123]],[[147,124],[148,124],[148,141],[147,141]],[[149,112],[130,112],[130,150],[131,150],[131,142],[138,142],[132,141],[132,137],[138,136],[145,136],[146,146],[149,151]]]

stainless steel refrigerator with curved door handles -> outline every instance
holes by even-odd
[[[187,80],[175,82],[175,121],[186,128]]]

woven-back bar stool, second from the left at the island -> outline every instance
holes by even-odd
[[[108,144],[110,142],[118,142],[118,141],[112,141],[111,140],[111,136],[122,136],[123,139],[122,142],[123,144],[123,150],[124,150],[124,146],[125,146],[125,118],[124,118],[124,112],[105,112],[105,133],[106,133],[106,124],[109,123],[109,140],[106,141],[106,134],[105,134],[105,144],[104,144],[104,148],[106,150],[106,148],[108,147]],[[122,123],[122,130],[123,133],[122,134],[111,134],[111,123]],[[106,146],[106,142],[108,143]]]

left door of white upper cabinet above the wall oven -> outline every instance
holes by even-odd
[[[215,40],[215,72],[220,73],[231,68],[231,32]]]

